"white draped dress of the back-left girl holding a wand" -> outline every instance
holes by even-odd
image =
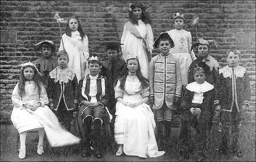
[[[84,35],[80,37],[79,31],[72,31],[71,37],[66,33],[62,35],[65,51],[68,53],[69,62],[68,66],[76,74],[76,78],[79,82],[81,78],[89,74],[88,70],[88,58],[89,58],[89,42],[88,37]],[[60,40],[59,51],[64,50],[62,40]],[[84,70],[86,67],[86,70]]]

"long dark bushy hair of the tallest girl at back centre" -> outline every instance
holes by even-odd
[[[146,7],[142,3],[135,2],[135,3],[132,4],[131,8],[132,8],[132,11],[129,11],[129,19],[131,20],[131,22],[133,24],[138,25],[138,19],[134,16],[133,9],[140,8],[140,9],[142,9],[142,15],[140,17],[141,20],[145,24],[150,24],[151,25],[151,23],[152,23],[151,17],[149,15],[149,13],[146,11]]]

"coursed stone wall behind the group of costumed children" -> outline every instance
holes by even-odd
[[[10,121],[13,104],[11,94],[18,82],[20,64],[32,62],[40,56],[34,44],[52,40],[60,46],[60,29],[54,19],[76,15],[82,21],[89,39],[90,55],[107,57],[104,44],[120,41],[123,26],[128,21],[128,6],[131,1],[0,1],[1,7],[1,53],[0,88],[1,122]],[[142,1],[153,19],[154,40],[163,31],[173,29],[173,15],[182,12],[186,23],[184,29],[196,42],[193,17],[199,17],[197,35],[214,39],[218,47],[211,48],[211,55],[225,66],[225,52],[237,48],[242,52],[240,65],[249,73],[251,106],[244,113],[249,122],[255,122],[255,1]],[[61,24],[64,33],[64,24]],[[157,49],[153,50],[156,55]],[[55,54],[56,56],[56,54]]]

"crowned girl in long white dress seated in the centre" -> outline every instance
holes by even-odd
[[[146,104],[148,80],[142,76],[137,56],[128,56],[126,62],[128,71],[118,79],[114,88],[117,99],[114,137],[119,145],[116,155],[161,156],[165,152],[158,151],[154,114]]]

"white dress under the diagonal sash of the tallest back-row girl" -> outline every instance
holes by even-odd
[[[140,35],[146,38],[150,51],[152,52],[152,50],[154,49],[153,47],[154,36],[153,36],[151,25],[143,23],[142,20],[138,20],[138,24],[139,25],[135,25],[135,27],[138,29]],[[134,36],[127,29],[126,24],[124,25],[124,31],[121,37],[121,44],[124,44],[124,45],[121,45],[121,49],[123,52],[123,59],[125,60],[127,55],[138,56],[142,75],[145,78],[148,78],[148,71],[149,71],[148,58],[142,45],[143,44],[142,39],[139,39],[136,36]]]

